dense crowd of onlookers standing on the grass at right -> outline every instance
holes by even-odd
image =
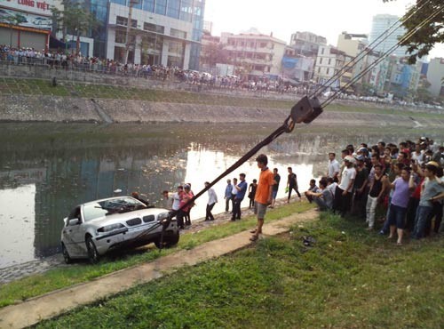
[[[369,230],[376,229],[376,215],[382,213],[379,234],[397,237],[398,245],[406,233],[421,239],[440,232],[443,146],[424,137],[398,145],[381,140],[371,147],[348,145],[341,157],[342,164],[329,153],[328,171],[319,187],[305,192],[321,211],[351,213],[365,219]]]

